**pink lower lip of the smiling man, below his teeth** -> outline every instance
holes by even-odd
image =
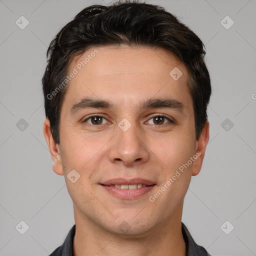
[[[135,199],[139,196],[149,192],[155,185],[151,186],[142,186],[140,188],[135,189],[121,189],[115,186],[105,186],[101,185],[106,191],[108,191],[110,194],[114,195],[117,198],[120,199]]]

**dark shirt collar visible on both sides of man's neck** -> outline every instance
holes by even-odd
[[[186,256],[210,256],[202,247],[195,243],[186,226],[181,222],[181,231],[186,243]],[[75,233],[75,224],[68,232],[63,244],[57,247],[49,256],[74,256],[73,254],[73,237]]]

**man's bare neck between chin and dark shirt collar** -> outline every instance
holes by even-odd
[[[185,256],[186,245],[181,232],[182,206],[173,219],[156,225],[143,235],[124,236],[109,232],[79,214],[74,208],[74,256]]]

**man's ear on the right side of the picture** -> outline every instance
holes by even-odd
[[[193,163],[192,176],[197,175],[200,172],[202,166],[202,160],[204,157],[206,145],[209,141],[209,122],[206,121],[201,131],[200,137],[196,140],[195,154],[198,156]]]

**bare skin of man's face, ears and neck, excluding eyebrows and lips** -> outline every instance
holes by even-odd
[[[73,57],[69,71],[94,48],[99,52],[69,82],[60,114],[59,145],[51,135],[49,120],[43,125],[53,170],[64,175],[73,201],[74,255],[185,255],[181,233],[183,199],[191,176],[201,169],[209,139],[208,121],[199,139],[195,139],[186,67],[161,48],[110,45],[92,47]],[[183,73],[178,80],[169,75],[175,66]],[[115,106],[70,114],[71,106],[85,96],[108,99]],[[140,108],[141,101],[152,97],[174,98],[183,104],[183,112]],[[92,124],[93,120],[87,119],[91,114],[105,119],[99,119],[101,124]],[[175,122],[164,119],[163,124],[157,124],[152,116],[157,114]],[[125,132],[118,127],[123,118],[131,124]],[[150,202],[149,196],[197,151],[197,159]],[[67,178],[72,169],[80,174],[74,183]],[[140,177],[156,185],[139,198],[124,200],[99,185],[116,177]],[[129,230],[119,229],[123,221]]]

